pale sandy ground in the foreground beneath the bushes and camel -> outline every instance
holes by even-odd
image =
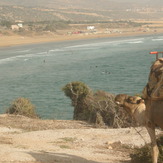
[[[146,130],[137,130],[149,142]],[[130,163],[132,148],[145,141],[134,128],[0,115],[2,163]]]

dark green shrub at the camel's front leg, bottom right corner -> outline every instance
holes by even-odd
[[[160,152],[158,163],[163,163],[163,136],[157,139],[157,145]],[[147,144],[141,148],[135,148],[133,153],[130,154],[130,157],[132,163],[152,163],[151,144]]]

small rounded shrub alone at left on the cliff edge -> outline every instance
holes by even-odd
[[[35,113],[35,106],[30,102],[29,99],[23,97],[14,100],[11,106],[7,109],[6,113],[23,115],[31,118],[37,117]]]

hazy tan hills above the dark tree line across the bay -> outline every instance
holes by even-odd
[[[0,0],[0,20],[161,19],[163,0]]]

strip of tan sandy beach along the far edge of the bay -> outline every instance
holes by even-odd
[[[75,34],[75,35],[43,35],[43,36],[0,36],[3,42],[0,42],[0,48],[7,48],[13,46],[50,43],[60,41],[84,40],[84,39],[98,39],[98,38],[115,38],[115,37],[128,37],[128,36],[147,36],[163,34],[163,30],[158,32],[124,32],[124,33],[111,33],[111,34]]]

